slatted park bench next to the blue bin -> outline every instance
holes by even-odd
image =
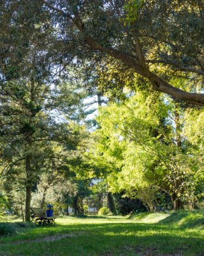
[[[31,207],[31,222],[36,225],[55,225],[55,216],[47,217],[42,208]]]

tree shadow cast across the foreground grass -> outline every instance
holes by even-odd
[[[38,232],[39,231],[39,232]],[[4,246],[0,246],[0,255],[70,255],[70,256],[99,256],[99,255],[204,255],[204,240],[198,237],[198,232],[177,230],[168,225],[144,223],[77,223],[77,225],[57,225],[57,227],[42,227],[32,230],[26,237],[18,236],[18,240],[32,242],[34,237],[52,236],[52,234],[75,234],[62,237],[61,240],[17,244],[8,237]],[[41,235],[41,232],[43,235]],[[197,237],[196,237],[197,236]],[[1,239],[0,239],[1,243]],[[31,245],[32,244],[32,245]],[[35,250],[35,247],[38,250]],[[29,250],[30,248],[30,250]],[[33,249],[31,249],[33,248]],[[13,254],[5,253],[11,250]],[[4,253],[4,254],[3,254]],[[30,253],[30,254],[29,254]],[[146,254],[145,254],[146,253]],[[148,254],[149,253],[149,254]],[[174,254],[173,254],[174,253]]]

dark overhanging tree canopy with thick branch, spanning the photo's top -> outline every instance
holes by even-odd
[[[118,82],[122,88],[128,79],[136,90],[137,74],[148,82],[149,93],[155,90],[188,105],[204,105],[200,0],[4,0],[0,8],[2,81],[25,74],[26,56],[31,47],[38,47],[43,64],[54,63],[53,70],[62,67],[61,74],[72,63],[83,65],[94,79],[113,66],[119,71],[113,87]],[[178,76],[187,77],[189,86],[175,84]]]

